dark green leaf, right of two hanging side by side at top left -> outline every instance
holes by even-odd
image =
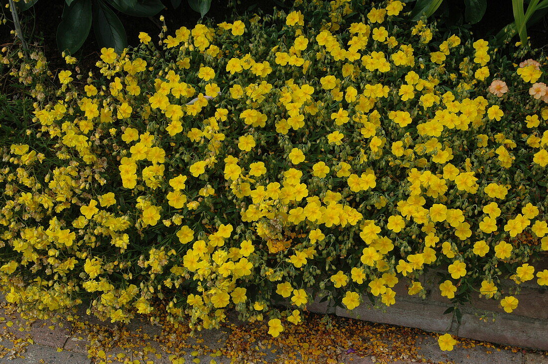
[[[93,7],[93,30],[102,47],[114,48],[119,54],[128,46],[122,22],[102,0]]]

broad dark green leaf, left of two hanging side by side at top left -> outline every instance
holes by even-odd
[[[75,53],[88,37],[92,27],[92,0],[75,0],[65,5],[57,27],[57,48]]]

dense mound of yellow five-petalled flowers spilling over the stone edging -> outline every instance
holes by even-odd
[[[141,33],[87,78],[4,51],[36,99],[2,151],[8,301],[127,321],[162,298],[197,330],[235,307],[277,337],[318,291],[392,305],[443,267],[432,294],[511,312],[501,280],[548,284],[546,56],[410,27],[403,6]]]

